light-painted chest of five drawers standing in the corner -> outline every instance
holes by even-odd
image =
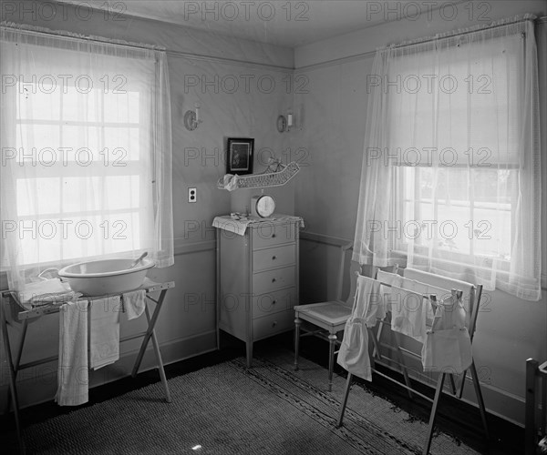
[[[300,218],[263,221],[243,236],[217,228],[218,329],[246,344],[294,329]]]

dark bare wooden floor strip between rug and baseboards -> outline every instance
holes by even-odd
[[[228,339],[228,342],[225,344],[226,348],[223,348],[221,351],[215,351],[166,366],[165,372],[168,379],[244,355],[244,345],[242,342]],[[255,352],[260,352],[261,349],[292,349],[292,346],[292,335],[287,334],[255,343]],[[327,343],[323,340],[308,338],[301,341],[301,355],[324,366],[325,369],[328,361],[327,353]],[[337,365],[335,366],[335,373],[346,376],[346,371]],[[140,373],[135,379],[120,379],[104,386],[90,389],[89,403],[83,406],[90,406],[93,403],[112,399],[127,393],[131,389],[139,389],[158,380],[158,372],[151,370]],[[363,385],[366,389],[396,404],[397,407],[406,410],[417,419],[428,421],[430,404],[425,399],[420,399],[419,397],[409,399],[404,389],[397,386],[394,387],[390,381],[378,376],[373,377],[372,383],[363,382]],[[431,394],[431,389],[429,388],[424,388],[423,391],[429,395]],[[446,394],[442,397],[442,400],[437,420],[439,430],[455,436],[480,453],[491,455],[518,455],[523,453],[524,430],[520,427],[489,414],[490,441],[487,443],[480,430],[482,427],[478,409],[458,399],[450,398]],[[23,425],[26,426],[65,414],[71,410],[73,409],[70,407],[59,407],[51,401],[22,410],[21,417]],[[3,434],[14,430],[15,425],[12,415],[0,418],[0,440]]]

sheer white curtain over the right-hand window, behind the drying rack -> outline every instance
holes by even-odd
[[[377,51],[354,259],[541,295],[532,16]]]

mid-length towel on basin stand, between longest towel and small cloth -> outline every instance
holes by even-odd
[[[89,308],[89,367],[119,359],[119,296],[92,300]]]

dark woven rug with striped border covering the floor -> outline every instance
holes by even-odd
[[[74,410],[24,430],[27,453],[420,454],[427,426],[355,386],[344,426],[335,420],[345,379],[289,352],[234,359]],[[3,447],[3,449],[5,446]],[[14,448],[12,447],[12,450]],[[3,450],[4,451],[4,450]],[[4,452],[5,453],[5,452]],[[437,433],[431,453],[474,454]]]

